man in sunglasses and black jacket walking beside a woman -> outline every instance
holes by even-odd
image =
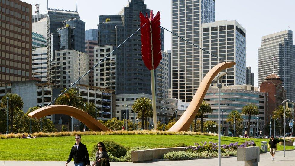
[[[75,135],[76,143],[71,149],[68,160],[66,161],[66,166],[74,158],[75,166],[84,166],[84,164],[90,166],[89,154],[86,145],[81,143],[81,135]]]

